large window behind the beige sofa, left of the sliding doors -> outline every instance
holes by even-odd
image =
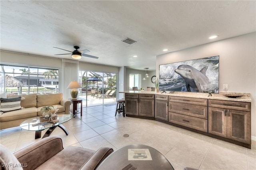
[[[59,91],[58,69],[4,64],[0,66],[0,92],[6,92],[7,95]]]

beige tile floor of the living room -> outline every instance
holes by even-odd
[[[175,170],[189,166],[200,170],[256,170],[256,142],[252,149],[200,135],[153,120],[114,116],[116,106],[84,107],[83,115],[64,123],[69,135],[56,128],[51,136],[69,145],[97,150],[114,150],[129,144],[144,144],[160,151]],[[46,130],[42,132],[42,135]],[[130,136],[125,138],[124,134]],[[16,152],[35,141],[33,131],[20,127],[0,131],[0,143]],[[121,160],[116,160],[121,161]]]

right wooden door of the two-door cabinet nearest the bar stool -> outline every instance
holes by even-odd
[[[140,99],[139,115],[147,117],[155,117],[155,104],[152,99]]]

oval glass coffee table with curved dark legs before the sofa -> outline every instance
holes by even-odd
[[[66,133],[66,135],[68,135],[68,131],[62,125],[62,123],[69,121],[73,117],[74,117],[73,114],[58,115],[59,122],[54,124],[48,123],[48,122],[40,122],[39,117],[36,117],[36,118],[27,119],[26,121],[22,122],[20,124],[20,127],[28,131],[35,131],[36,132],[35,139],[38,139],[41,137],[41,133],[44,129],[48,129],[48,130],[46,131],[46,133],[42,138],[50,136],[50,134],[56,127],[60,127],[60,129],[62,129]]]

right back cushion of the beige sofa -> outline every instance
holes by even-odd
[[[63,94],[38,94],[37,95],[37,107],[41,106],[49,106],[60,104],[60,100],[62,100]]]

